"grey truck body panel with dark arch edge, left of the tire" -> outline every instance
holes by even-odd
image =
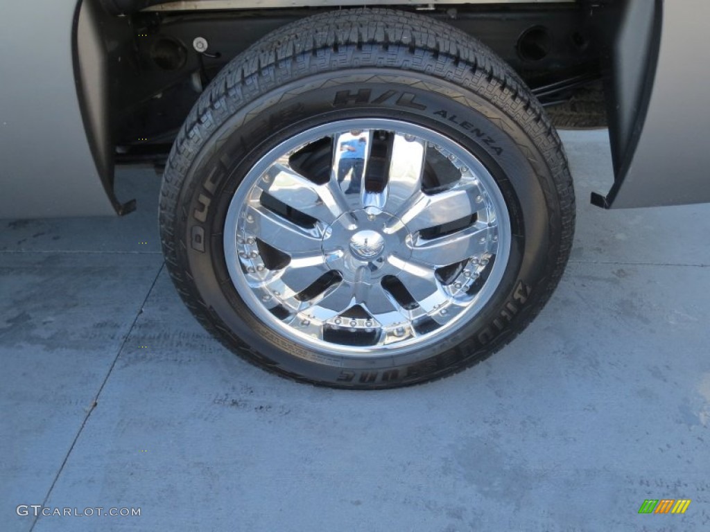
[[[109,215],[120,208],[111,188],[110,165],[99,160],[92,146],[97,132],[87,127],[85,92],[77,77],[82,71],[81,65],[77,67],[79,57],[97,52],[87,34],[91,24],[86,25],[90,22],[86,10],[91,5],[38,0],[11,2],[4,8],[0,34],[4,218]],[[40,28],[38,11],[45,15]],[[43,40],[28,37],[38,31]]]

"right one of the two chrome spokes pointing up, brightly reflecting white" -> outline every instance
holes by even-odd
[[[380,194],[378,205],[388,212],[397,212],[414,194],[422,189],[422,170],[427,143],[412,135],[397,133],[392,144],[389,179]]]

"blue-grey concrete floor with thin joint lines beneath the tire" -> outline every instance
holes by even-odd
[[[120,174],[126,218],[0,222],[0,530],[708,530],[710,206],[592,207],[606,131],[563,139],[579,221],[547,308],[389,392],[293,384],[208,336],[163,267],[150,170]]]

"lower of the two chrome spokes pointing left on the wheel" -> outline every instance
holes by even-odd
[[[320,250],[317,229],[302,228],[261,206],[249,205],[246,208],[246,230],[290,255]]]

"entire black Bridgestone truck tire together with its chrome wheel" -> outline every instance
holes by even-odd
[[[378,389],[469,367],[530,323],[567,262],[574,191],[491,50],[425,16],[342,10],[215,77],[170,153],[160,232],[180,296],[235,353]]]

